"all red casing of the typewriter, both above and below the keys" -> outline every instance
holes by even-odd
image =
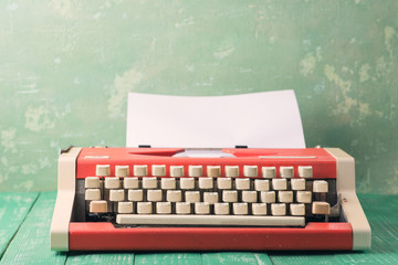
[[[233,158],[172,157],[177,148],[83,148],[77,158],[77,179],[95,176],[96,165],[115,166],[189,165],[294,167],[312,166],[313,179],[336,179],[336,160],[322,148],[307,149],[223,149]],[[266,157],[266,158],[261,158]],[[206,173],[206,168],[203,167]],[[132,170],[130,170],[132,176]],[[261,173],[259,173],[261,178]],[[276,178],[280,178],[276,170]],[[70,251],[262,251],[262,250],[352,250],[349,223],[307,223],[305,227],[115,227],[112,223],[71,222]]]

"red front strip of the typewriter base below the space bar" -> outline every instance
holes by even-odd
[[[305,227],[129,227],[70,223],[70,251],[297,251],[353,250],[349,223]]]

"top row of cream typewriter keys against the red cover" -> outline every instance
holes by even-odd
[[[203,177],[202,166],[191,165],[188,167],[188,177]],[[170,166],[169,176],[175,178],[185,177],[184,166]],[[259,167],[258,166],[243,166],[243,177],[259,177]],[[281,178],[294,178],[294,167],[279,167]],[[239,166],[226,166],[224,167],[224,177],[238,178],[241,177],[239,173]],[[221,166],[206,166],[206,176],[211,178],[221,177]],[[108,177],[111,176],[111,166],[109,165],[96,165],[95,174],[97,177]],[[133,174],[135,177],[146,177],[148,176],[148,166],[147,165],[134,165]],[[128,177],[129,167],[128,166],[115,166],[115,176],[116,177]],[[166,176],[166,165],[151,165],[151,176],[154,177],[165,177]],[[276,177],[276,167],[261,167],[261,177],[272,179]],[[312,166],[298,166],[298,177],[301,178],[312,178],[313,168]]]

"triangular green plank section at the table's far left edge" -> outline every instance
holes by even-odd
[[[38,192],[0,193],[0,258],[38,199]]]

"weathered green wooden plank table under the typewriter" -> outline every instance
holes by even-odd
[[[360,195],[373,229],[367,252],[134,253],[50,251],[56,192],[0,193],[0,264],[398,264],[398,195]]]

